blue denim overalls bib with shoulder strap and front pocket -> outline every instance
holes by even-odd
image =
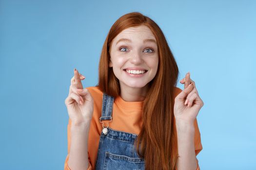
[[[103,93],[102,112],[99,118],[103,130],[100,135],[95,169],[144,170],[144,159],[138,156],[134,145],[137,135],[108,127],[108,123],[112,121],[113,102],[114,97]],[[110,120],[107,122],[107,127],[101,120]]]

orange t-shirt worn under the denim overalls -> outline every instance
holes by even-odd
[[[100,134],[102,131],[102,124],[99,122],[101,117],[101,107],[103,92],[100,91],[98,86],[86,87],[94,99],[94,112],[93,118],[91,120],[89,137],[88,137],[88,160],[89,167],[88,170],[94,170],[97,154],[98,154],[98,143],[100,139]],[[182,90],[178,87],[175,88],[175,97]],[[115,98],[113,103],[112,111],[112,121],[109,123],[109,128],[123,131],[127,133],[132,133],[138,135],[142,126],[142,102],[126,102],[120,96]],[[66,156],[64,170],[70,170],[68,167],[68,158],[70,151],[71,142],[71,119],[68,121],[67,125],[67,138],[68,138],[68,154]],[[104,124],[106,125],[106,124]],[[202,150],[200,132],[197,125],[197,119],[194,122],[195,126],[195,153],[196,155]],[[197,170],[200,170],[197,160]]]

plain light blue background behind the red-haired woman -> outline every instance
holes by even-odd
[[[0,169],[63,169],[73,69],[96,85],[110,27],[134,11],[162,29],[179,80],[196,82],[200,168],[256,169],[254,0],[0,0]]]

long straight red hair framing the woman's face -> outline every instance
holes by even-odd
[[[120,85],[109,68],[110,47],[113,39],[124,29],[145,25],[155,35],[158,44],[158,71],[149,82],[143,104],[142,128],[135,142],[138,155],[145,160],[146,170],[177,169],[177,132],[174,117],[174,90],[177,85],[178,67],[164,34],[152,19],[138,12],[118,18],[103,44],[99,60],[98,86],[106,94],[120,95]]]

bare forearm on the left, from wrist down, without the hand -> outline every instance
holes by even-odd
[[[88,135],[90,121],[80,125],[68,125],[68,155],[64,170],[90,169],[88,160]]]

